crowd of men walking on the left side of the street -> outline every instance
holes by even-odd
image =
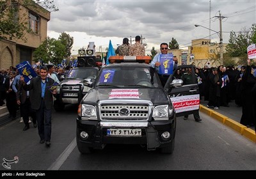
[[[15,120],[20,110],[20,123],[24,123],[23,130],[29,129],[29,123],[38,128],[40,143],[51,144],[51,112],[56,91],[50,91],[47,86],[54,82],[63,81],[70,70],[54,65],[33,66],[38,77],[27,83],[19,74],[17,68],[10,68],[0,72],[0,106],[6,104],[9,118]],[[41,85],[40,85],[41,84]],[[33,99],[33,100],[32,100]]]

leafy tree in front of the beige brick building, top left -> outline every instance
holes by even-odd
[[[51,0],[4,0],[0,1],[0,40],[1,39],[21,39],[26,42],[26,33],[31,30],[28,26],[28,16],[26,14],[18,15],[20,6],[36,9],[39,4],[46,10],[58,11]]]

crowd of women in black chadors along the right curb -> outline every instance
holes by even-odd
[[[250,60],[248,60],[250,61]],[[177,70],[173,76],[182,79],[189,69]],[[229,107],[234,101],[242,107],[240,123],[246,127],[255,126],[256,122],[256,66],[250,65],[235,68],[234,66],[195,67],[200,91],[200,99],[204,97],[207,107],[219,109]]]

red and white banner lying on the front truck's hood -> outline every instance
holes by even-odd
[[[112,89],[109,94],[111,98],[139,98],[139,89]]]

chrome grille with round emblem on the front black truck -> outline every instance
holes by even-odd
[[[148,105],[101,105],[101,120],[148,120]]]

